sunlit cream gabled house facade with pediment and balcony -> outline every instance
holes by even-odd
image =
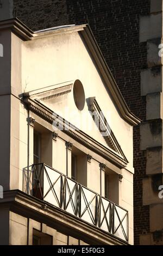
[[[0,243],[133,244],[140,120],[90,27],[32,32],[10,19],[0,30]]]

